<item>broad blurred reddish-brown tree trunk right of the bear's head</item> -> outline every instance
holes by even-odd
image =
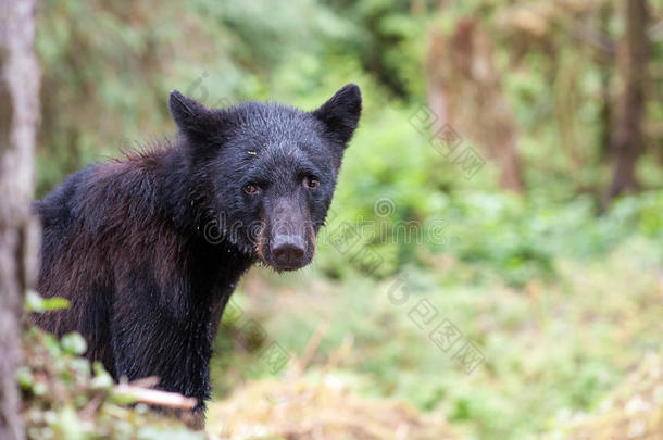
[[[517,130],[493,58],[489,36],[473,18],[461,21],[450,37],[433,30],[426,66],[428,104],[440,126],[449,124],[484,148],[500,169],[502,189],[522,192]]]

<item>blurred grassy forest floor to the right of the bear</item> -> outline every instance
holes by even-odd
[[[217,341],[223,352],[230,340],[234,355],[214,361],[208,431],[660,439],[658,252],[634,237],[589,261],[555,260],[553,277],[518,288],[439,254],[418,255],[408,278],[380,281],[255,269],[234,300],[242,316]],[[251,319],[262,326],[263,348],[276,342],[290,354],[276,374],[242,339]],[[476,350],[470,362],[467,350]]]

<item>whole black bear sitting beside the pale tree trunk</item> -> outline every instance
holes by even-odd
[[[212,110],[172,91],[168,108],[175,140],[93,164],[35,202],[37,290],[71,307],[34,319],[58,336],[80,332],[87,357],[115,380],[157,376],[161,389],[198,399],[200,413],[240,276],[255,262],[311,262],[361,93],[350,84],[304,112],[263,102]]]

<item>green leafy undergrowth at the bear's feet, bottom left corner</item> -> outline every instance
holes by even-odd
[[[24,335],[24,365],[17,370],[23,390],[28,439],[202,439],[182,423],[148,412],[115,392],[112,377],[99,363],[80,355],[86,343],[78,334],[58,340],[30,328]]]

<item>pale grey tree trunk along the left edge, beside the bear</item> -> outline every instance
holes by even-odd
[[[36,274],[29,213],[39,115],[34,0],[0,0],[0,439],[24,439],[15,368],[21,311]]]

